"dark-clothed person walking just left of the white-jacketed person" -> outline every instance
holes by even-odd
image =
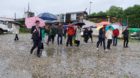
[[[101,28],[99,30],[98,42],[97,42],[97,50],[99,50],[99,45],[103,43],[104,50],[106,50],[105,46],[105,29]]]

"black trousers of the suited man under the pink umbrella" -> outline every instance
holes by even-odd
[[[37,56],[39,56],[41,47],[42,47],[41,40],[34,40],[33,39],[33,47],[31,48],[31,54],[33,53],[34,49],[37,48]]]

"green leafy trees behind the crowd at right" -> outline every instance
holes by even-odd
[[[134,5],[124,10],[121,7],[111,6],[106,12],[101,11],[90,16],[115,17],[116,21],[128,24],[129,27],[140,27],[140,5]]]

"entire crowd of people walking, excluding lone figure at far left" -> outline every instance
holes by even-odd
[[[55,37],[57,35],[57,44],[62,45],[63,44],[63,37],[67,38],[66,40],[66,46],[79,46],[80,45],[80,39],[81,39],[81,27],[75,26],[74,24],[68,24],[67,26],[64,26],[63,24],[59,23],[57,25],[52,24],[51,26],[46,24],[44,27],[39,26],[39,21],[36,21],[36,25],[32,27],[31,33],[32,33],[32,40],[33,40],[33,47],[31,48],[30,53],[32,54],[35,48],[37,49],[37,56],[40,57],[40,52],[44,48],[43,41],[45,41],[45,37],[48,36],[46,40],[46,44],[49,45],[49,42],[52,42],[54,44]],[[91,39],[91,42],[93,42],[92,39],[92,28],[85,28],[83,31],[83,38],[84,42],[87,43],[89,39]],[[128,35],[129,32],[126,28],[126,30],[123,32],[124,34],[124,47],[128,47]],[[98,42],[97,42],[97,50],[99,50],[99,45],[103,44],[104,50],[110,50],[110,46],[113,41],[113,46],[117,46],[117,39],[119,35],[119,30],[115,29],[112,30],[111,27],[109,27],[109,30],[105,30],[105,28],[101,28],[99,30],[99,36],[98,36]],[[106,47],[106,39],[107,39],[107,47]]]

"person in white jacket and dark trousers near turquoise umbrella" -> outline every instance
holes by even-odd
[[[106,38],[107,38],[107,49],[110,50],[110,46],[112,44],[113,39],[113,31],[111,27],[109,27],[109,30],[106,32]]]

